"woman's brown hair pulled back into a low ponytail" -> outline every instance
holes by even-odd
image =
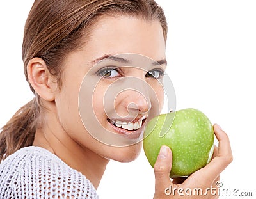
[[[164,12],[153,0],[36,0],[24,28],[22,58],[26,80],[29,60],[42,58],[49,72],[57,77],[61,89],[61,61],[68,53],[84,45],[82,38],[90,34],[95,20],[105,14],[159,20],[166,40]],[[29,86],[35,93],[30,83]],[[0,161],[33,144],[41,109],[40,97],[35,93],[35,98],[4,125],[0,132]]]

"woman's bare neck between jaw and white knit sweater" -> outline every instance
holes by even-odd
[[[36,130],[33,145],[49,150],[68,166],[83,173],[95,189],[99,186],[109,162],[108,159],[79,145],[52,118],[44,127]]]

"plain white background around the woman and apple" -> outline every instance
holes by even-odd
[[[177,109],[195,107],[221,125],[234,154],[221,175],[223,188],[256,195],[255,1],[157,2],[169,25],[167,71]],[[21,58],[24,22],[32,4],[32,0],[0,3],[0,126],[33,97]],[[98,191],[100,198],[152,198],[154,171],[143,152],[132,163],[111,161]]]

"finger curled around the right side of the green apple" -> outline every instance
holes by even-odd
[[[214,132],[219,141],[218,148],[214,147],[215,157],[204,168],[195,172],[196,177],[202,182],[213,182],[232,162],[232,151],[227,134],[218,125],[214,125]]]

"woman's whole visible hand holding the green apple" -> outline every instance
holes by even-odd
[[[157,161],[154,165],[156,177],[154,199],[218,198],[218,192],[216,191],[216,195],[213,195],[211,194],[210,189],[211,187],[213,189],[216,188],[216,182],[220,180],[220,173],[232,162],[233,157],[227,134],[218,125],[214,125],[214,133],[219,144],[218,147],[214,147],[211,162],[186,179],[179,178],[174,179],[173,181],[170,180],[169,175],[172,168],[172,151],[169,147],[161,147]],[[172,188],[172,190],[170,188]],[[180,191],[183,190],[180,192],[182,196],[178,193],[179,189]],[[188,191],[188,189],[189,191],[191,190],[192,195],[186,195],[185,191]],[[202,196],[201,194],[193,195],[193,190],[198,189],[202,189]],[[206,191],[207,195],[204,195]]]

